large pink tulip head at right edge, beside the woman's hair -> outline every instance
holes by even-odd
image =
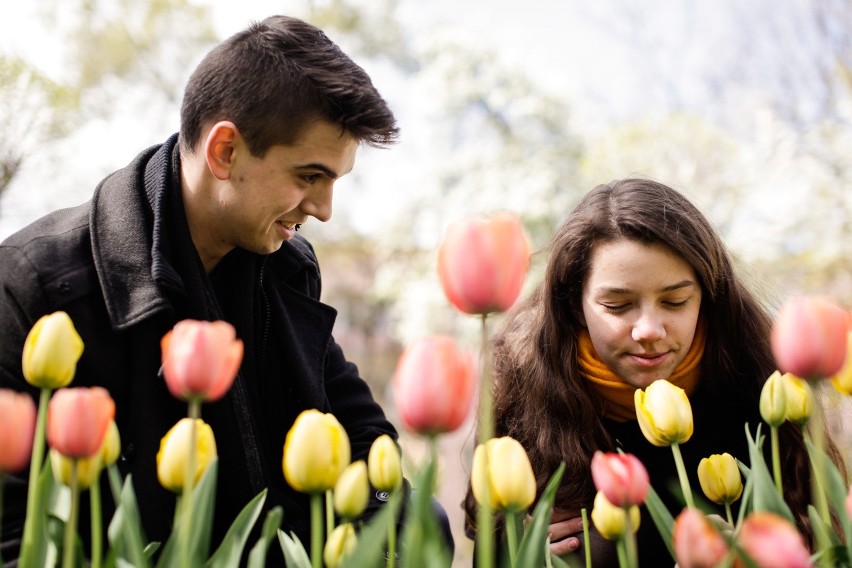
[[[784,373],[813,379],[840,371],[849,313],[824,298],[803,296],[782,306],[772,326],[772,353]]]

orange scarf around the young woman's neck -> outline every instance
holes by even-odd
[[[668,378],[670,383],[685,390],[687,396],[692,394],[698,384],[698,364],[704,355],[704,342],[707,338],[705,327],[699,320],[686,357]],[[604,416],[618,422],[636,420],[636,406],[633,402],[636,387],[624,382],[624,379],[613,373],[598,357],[586,330],[580,333],[579,349],[580,374],[592,382],[592,386],[603,399]]]

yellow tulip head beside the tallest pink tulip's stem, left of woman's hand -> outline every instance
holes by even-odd
[[[477,446],[471,485],[480,504],[487,488],[495,511],[522,511],[535,500],[535,475],[529,456],[520,442],[509,436],[492,438]]]

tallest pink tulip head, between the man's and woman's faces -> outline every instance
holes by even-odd
[[[450,302],[467,314],[509,309],[524,283],[530,247],[509,213],[451,225],[438,250],[438,276]]]

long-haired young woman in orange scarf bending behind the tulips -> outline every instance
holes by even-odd
[[[544,281],[494,345],[496,435],[524,445],[539,492],[560,462],[567,466],[552,552],[582,554],[579,517],[592,509],[596,450],[636,455],[672,514],[683,507],[671,450],[652,446],[639,429],[636,389],[667,379],[689,396],[695,429],[681,451],[697,495],[701,458],[728,452],[748,463],[745,427],[754,434],[760,423],[760,391],[775,370],[770,327],[713,227],[680,193],[625,179],[581,200],[551,241]],[[782,448],[785,498],[808,534],[800,431],[782,427]],[[471,530],[475,507],[469,494]],[[671,566],[644,507],[642,514],[640,564]],[[615,565],[614,548],[592,536],[594,564]]]

